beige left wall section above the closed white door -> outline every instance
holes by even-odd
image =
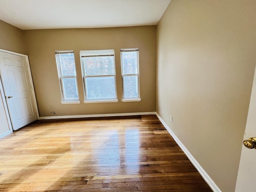
[[[0,20],[0,49],[27,55],[23,31]]]

